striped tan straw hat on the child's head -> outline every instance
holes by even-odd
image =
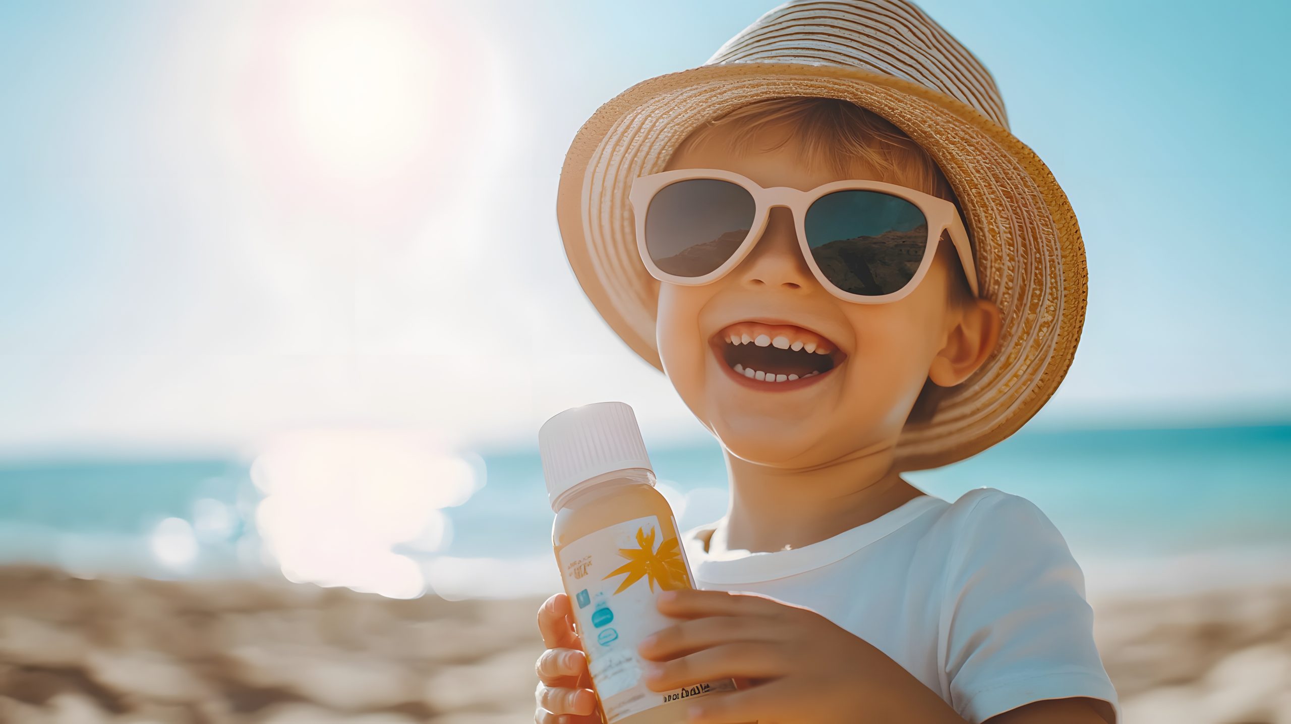
[[[658,281],[636,250],[627,192],[701,124],[751,101],[824,96],[891,121],[941,166],[976,245],[980,296],[1001,341],[926,422],[909,422],[900,470],[939,467],[1003,440],[1053,395],[1084,321],[1084,246],[1043,161],[1008,130],[990,72],[908,0],[785,3],[702,66],[638,83],[603,105],[560,170],[569,265],[609,327],[662,370]]]

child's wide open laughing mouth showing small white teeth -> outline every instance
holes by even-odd
[[[736,323],[709,341],[736,374],[764,382],[794,382],[824,374],[847,357],[830,339],[800,327]]]

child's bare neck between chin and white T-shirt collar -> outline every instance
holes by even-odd
[[[729,550],[800,548],[896,510],[923,492],[893,470],[895,445],[883,440],[812,467],[769,467],[727,452],[731,510],[714,536]]]

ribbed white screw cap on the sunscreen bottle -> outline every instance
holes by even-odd
[[[633,467],[655,471],[627,403],[593,403],[553,416],[538,428],[538,454],[553,508],[584,480]]]

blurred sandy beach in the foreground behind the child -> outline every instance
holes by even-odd
[[[532,721],[542,598],[0,568],[0,721]],[[1291,585],[1092,603],[1126,724],[1291,724]]]

